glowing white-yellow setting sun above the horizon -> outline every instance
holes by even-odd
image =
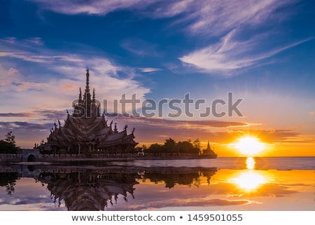
[[[265,144],[260,142],[257,137],[241,137],[237,143],[234,144],[235,148],[246,156],[255,156],[260,151],[265,149]]]

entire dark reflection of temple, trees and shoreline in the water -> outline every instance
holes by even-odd
[[[14,193],[14,186],[20,177],[34,177],[50,191],[50,198],[58,207],[65,205],[70,211],[106,210],[118,201],[128,201],[134,196],[136,185],[140,182],[165,184],[172,189],[176,184],[199,186],[200,177],[210,179],[216,174],[216,168],[97,168],[44,167],[40,170],[24,166],[24,172],[0,173],[0,177],[9,180],[7,190]],[[25,172],[27,171],[27,172]],[[45,172],[41,172],[45,171]],[[22,174],[21,174],[22,173]],[[8,179],[8,176],[10,177]],[[8,194],[10,194],[8,192]]]

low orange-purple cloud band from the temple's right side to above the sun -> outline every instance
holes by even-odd
[[[115,121],[116,119],[113,118]],[[218,143],[232,143],[244,135],[258,137],[262,142],[284,142],[289,138],[297,137],[300,133],[293,130],[257,130],[246,129],[250,123],[235,121],[172,121],[163,118],[124,118],[118,117],[118,124],[128,124],[136,128],[134,134],[141,142],[161,142],[168,137],[176,140],[200,139]],[[233,129],[239,127],[241,129]],[[216,128],[225,128],[216,131]]]

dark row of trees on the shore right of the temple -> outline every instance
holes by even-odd
[[[151,146],[146,149],[144,148],[144,154],[202,154],[202,149],[200,146],[200,140],[195,139],[195,141],[191,141],[188,139],[187,141],[176,142],[174,139],[169,138],[166,139],[164,144],[151,144]]]

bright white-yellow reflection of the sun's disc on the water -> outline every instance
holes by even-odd
[[[267,182],[265,176],[255,170],[241,172],[237,177],[230,179],[230,181],[245,191],[254,191]]]

